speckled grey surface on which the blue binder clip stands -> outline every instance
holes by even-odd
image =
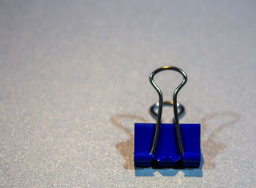
[[[255,187],[255,1],[1,1],[0,186]],[[196,170],[134,169],[148,75],[178,66]],[[157,76],[170,100],[181,77]],[[173,116],[173,115],[172,115]],[[165,122],[170,109],[164,110]]]

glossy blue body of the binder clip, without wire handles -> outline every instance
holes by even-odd
[[[184,167],[199,167],[200,124],[180,124],[184,154],[178,147],[176,127],[173,124],[161,124],[154,154],[150,154],[154,140],[156,124],[135,123],[135,166],[151,166],[155,161],[161,166],[173,166],[180,160]]]

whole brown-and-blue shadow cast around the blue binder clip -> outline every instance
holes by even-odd
[[[137,168],[133,163],[133,152],[134,152],[134,133],[130,131],[125,125],[121,124],[119,121],[124,119],[132,120],[129,125],[134,125],[134,122],[143,122],[147,123],[148,121],[143,118],[136,116],[134,114],[118,114],[110,119],[111,123],[124,130],[129,135],[129,139],[127,141],[123,141],[121,143],[116,144],[116,149],[122,157],[124,158],[124,169],[127,170],[135,170],[135,176],[154,176],[154,173],[159,172],[162,176],[176,176],[176,174],[181,171],[184,173],[184,176],[192,176],[192,177],[202,177],[203,171],[205,169],[214,169],[215,164],[213,162],[214,158],[217,157],[219,153],[221,153],[225,148],[225,143],[219,143],[214,141],[214,138],[218,135],[218,133],[230,125],[235,124],[239,121],[240,116],[234,112],[219,112],[214,114],[209,114],[206,117],[203,117],[201,120],[201,134],[204,135],[207,129],[208,120],[217,118],[217,117],[231,117],[232,120],[226,122],[219,127],[215,128],[212,133],[208,136],[207,140],[201,140],[201,154],[202,160],[199,168],[181,168],[181,166],[176,165],[173,168],[162,168],[155,164],[152,164],[150,168]]]

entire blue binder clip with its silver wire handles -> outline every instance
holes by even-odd
[[[160,71],[173,70],[183,76],[183,81],[173,93],[173,101],[163,102],[162,91],[154,82],[154,75]],[[159,102],[151,106],[151,114],[157,123],[135,123],[134,164],[140,167],[159,165],[181,168],[200,166],[200,124],[179,123],[178,117],[184,113],[184,106],[177,102],[178,91],[187,82],[187,74],[174,66],[163,66],[153,71],[149,77],[151,85],[157,90]],[[162,123],[162,107],[173,106],[173,123]],[[158,108],[158,113],[154,109]],[[179,112],[178,112],[179,109]]]

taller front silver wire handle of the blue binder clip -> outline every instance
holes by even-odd
[[[186,82],[187,82],[187,74],[181,70],[181,68],[175,67],[175,66],[162,66],[160,68],[157,68],[157,70],[153,71],[150,76],[149,76],[149,81],[151,82],[151,85],[157,90],[157,93],[159,95],[159,108],[158,108],[158,113],[157,113],[157,125],[156,125],[156,131],[154,133],[154,141],[151,147],[151,152],[150,154],[154,154],[154,151],[157,146],[157,138],[158,138],[158,133],[159,133],[159,128],[161,124],[161,118],[162,118],[162,105],[163,105],[163,96],[162,96],[162,91],[154,82],[154,75],[159,73],[160,71],[165,71],[165,70],[173,70],[177,71],[183,76],[183,80],[180,85],[174,90],[173,92],[173,112],[174,112],[174,121],[173,124],[176,125],[176,132],[177,132],[177,138],[178,138],[178,146],[180,149],[181,154],[184,154],[184,149],[181,141],[181,131],[179,129],[179,121],[178,121],[178,105],[177,105],[177,95],[178,91],[181,90],[181,87],[183,87]]]

